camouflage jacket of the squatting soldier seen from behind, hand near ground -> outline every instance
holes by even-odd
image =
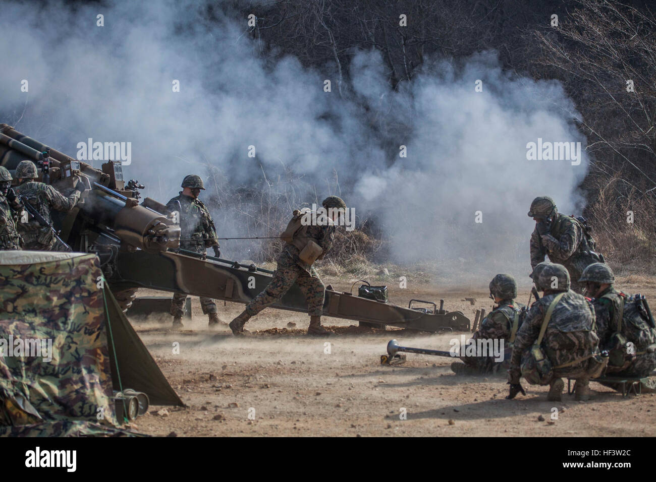
[[[546,310],[558,294],[560,293],[545,294],[527,313],[512,348],[508,371],[511,383],[519,382],[522,353],[537,341]],[[578,293],[565,292],[546,326],[541,344],[544,354],[556,369],[565,363],[586,359],[596,351],[598,344],[592,304]],[[577,365],[573,365],[573,368],[576,367]]]

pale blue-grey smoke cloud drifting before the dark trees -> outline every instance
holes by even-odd
[[[5,2],[0,31],[0,121],[73,157],[88,138],[131,142],[124,175],[159,201],[190,173],[219,197],[218,179],[249,186],[266,176],[275,190],[291,174],[291,202],[337,193],[373,217],[390,261],[487,279],[525,277],[535,196],[561,212],[581,208],[588,159],[573,104],[559,83],[504,72],[495,52],[426,62],[396,91],[379,52],[354,52],[342,98],[332,66],[266,58],[246,18],[210,21],[194,2]],[[581,142],[580,165],[527,160],[539,138]],[[213,212],[220,235],[243,234],[239,212],[223,204]],[[227,256],[248,257],[227,246]]]

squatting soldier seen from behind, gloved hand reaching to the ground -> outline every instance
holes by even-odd
[[[564,388],[561,377],[564,376],[576,378],[575,398],[587,400],[590,379],[588,365],[592,355],[598,353],[599,344],[594,308],[581,294],[569,290],[569,273],[560,264],[544,266],[538,283],[538,289],[544,291],[544,296],[531,306],[517,332],[508,370],[508,398],[514,398],[518,392],[523,392],[520,385],[522,355],[539,338],[546,312],[558,297],[541,343],[543,353],[551,362],[553,370],[552,379],[548,382],[548,400],[560,401]]]

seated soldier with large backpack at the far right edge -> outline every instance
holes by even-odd
[[[605,374],[646,378],[656,369],[656,330],[651,317],[638,300],[615,289],[615,275],[606,264],[590,264],[581,275],[586,294],[591,296],[596,313],[600,350],[609,352]],[[602,382],[621,390],[619,384]],[[656,377],[642,383],[641,390],[653,392]]]

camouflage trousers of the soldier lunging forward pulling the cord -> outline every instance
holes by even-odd
[[[309,314],[321,316],[325,287],[314,268],[310,268],[308,273],[298,266],[286,251],[280,253],[277,262],[278,266],[274,271],[273,279],[264,291],[247,304],[246,312],[251,316],[256,315],[270,304],[277,302],[296,283],[308,302]]]

